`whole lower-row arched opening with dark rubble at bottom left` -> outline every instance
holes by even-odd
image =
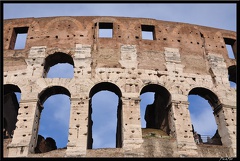
[[[46,88],[39,94],[40,121],[35,153],[66,148],[70,119],[70,92],[61,86]]]

